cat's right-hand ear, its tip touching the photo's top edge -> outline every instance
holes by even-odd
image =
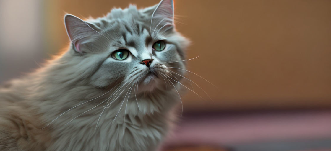
[[[161,0],[161,2],[156,6],[156,9],[152,14],[152,22],[155,23],[153,20],[160,19],[164,22],[164,25],[174,25],[173,0]]]

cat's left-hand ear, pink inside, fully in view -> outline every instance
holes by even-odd
[[[98,29],[76,16],[67,14],[64,17],[67,34],[74,49],[78,53],[83,53],[82,44],[92,42],[98,36]]]

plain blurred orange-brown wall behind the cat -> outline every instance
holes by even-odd
[[[158,0],[45,1],[52,51],[68,44],[65,12],[99,17],[111,8],[151,6]],[[188,69],[198,87],[184,109],[331,106],[331,1],[175,0],[177,29],[191,39]],[[189,83],[186,84],[189,88]]]

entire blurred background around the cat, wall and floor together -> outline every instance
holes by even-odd
[[[0,0],[0,84],[69,45],[63,17],[159,0]],[[192,41],[184,114],[163,150],[331,150],[330,0],[175,0]],[[189,88],[191,84],[186,82]]]

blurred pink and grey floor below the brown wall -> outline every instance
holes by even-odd
[[[166,144],[208,144],[234,151],[331,150],[331,111],[187,114]]]

